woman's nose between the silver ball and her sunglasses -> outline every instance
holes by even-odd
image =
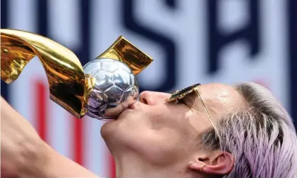
[[[143,91],[139,95],[139,101],[148,105],[163,104],[170,94],[156,92],[156,91]]]

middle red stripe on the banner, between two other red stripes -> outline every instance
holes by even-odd
[[[73,116],[72,116],[73,117]],[[74,140],[73,140],[73,149],[74,149],[74,160],[80,165],[83,165],[83,158],[84,158],[84,148],[83,148],[83,120],[82,119],[77,119],[75,117],[72,118],[74,121]]]

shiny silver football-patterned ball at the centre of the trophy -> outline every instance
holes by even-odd
[[[136,77],[118,60],[96,59],[84,66],[85,74],[95,77],[96,84],[87,100],[87,116],[98,119],[115,118],[133,104],[139,95]]]

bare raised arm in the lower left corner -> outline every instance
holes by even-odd
[[[60,155],[1,97],[1,177],[97,177]]]

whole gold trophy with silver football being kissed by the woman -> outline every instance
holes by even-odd
[[[37,56],[45,69],[50,99],[76,118],[114,119],[139,95],[136,74],[153,59],[120,36],[82,67],[68,48],[41,35],[1,29],[1,79],[15,81]]]

